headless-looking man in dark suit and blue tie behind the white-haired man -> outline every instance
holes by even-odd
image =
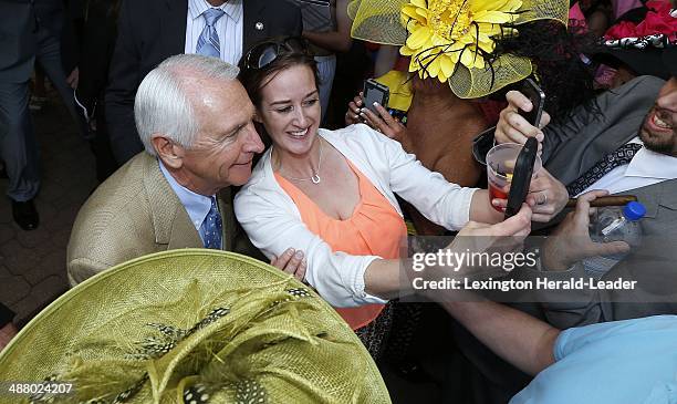
[[[170,55],[208,54],[199,46],[205,42],[200,38],[206,30],[207,9],[222,10],[213,22],[219,44],[216,52],[231,64],[237,64],[243,51],[260,40],[300,35],[302,30],[301,12],[288,1],[123,1],[106,91],[106,121],[118,164],[143,151],[133,105],[144,76]]]

